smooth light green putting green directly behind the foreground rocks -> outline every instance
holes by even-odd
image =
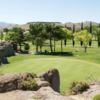
[[[51,68],[57,68],[60,72],[62,92],[68,90],[73,81],[92,81],[100,77],[99,64],[74,58],[17,55],[10,57],[9,61],[10,64],[0,68],[0,73],[33,72],[40,74]]]

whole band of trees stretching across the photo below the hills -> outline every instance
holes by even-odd
[[[56,41],[60,41],[61,52],[63,52],[63,45],[66,46],[67,39],[72,40],[72,45],[74,47],[75,40],[80,41],[80,45],[84,47],[85,52],[87,52],[88,44],[92,45],[92,39],[95,37],[95,40],[100,47],[100,25],[93,26],[90,23],[90,27],[84,27],[83,23],[81,24],[81,30],[76,31],[75,25],[72,29],[67,29],[64,26],[56,25],[54,23],[35,23],[31,24],[29,30],[25,31],[21,28],[14,27],[12,29],[4,29],[5,35],[1,32],[1,40],[10,42],[16,42],[20,50],[22,50],[22,44],[26,41],[32,41],[36,46],[36,53],[42,52],[42,47],[45,44],[45,41],[49,41],[49,47],[51,53],[56,52]]]

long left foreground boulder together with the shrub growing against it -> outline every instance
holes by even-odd
[[[33,87],[35,86],[35,87]],[[49,82],[41,80],[33,73],[5,74],[0,76],[0,92],[12,90],[37,90],[50,86]]]

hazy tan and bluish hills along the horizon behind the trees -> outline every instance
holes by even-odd
[[[73,23],[73,22],[67,22],[67,23],[61,23],[61,22],[28,22],[26,24],[18,25],[18,24],[11,24],[11,23],[6,23],[6,22],[0,22],[0,29],[3,28],[13,28],[13,27],[21,27],[22,29],[28,30],[30,24],[35,24],[35,23],[55,23],[56,25],[63,25],[68,28],[72,28],[73,24],[75,25],[76,30],[81,28],[81,22],[79,23]],[[90,21],[83,22],[84,27],[90,25]],[[99,23],[92,22],[93,25],[98,25]]]

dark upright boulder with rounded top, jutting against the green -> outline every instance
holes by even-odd
[[[54,91],[60,92],[60,76],[57,69],[51,69],[40,75],[45,81],[48,81]]]

